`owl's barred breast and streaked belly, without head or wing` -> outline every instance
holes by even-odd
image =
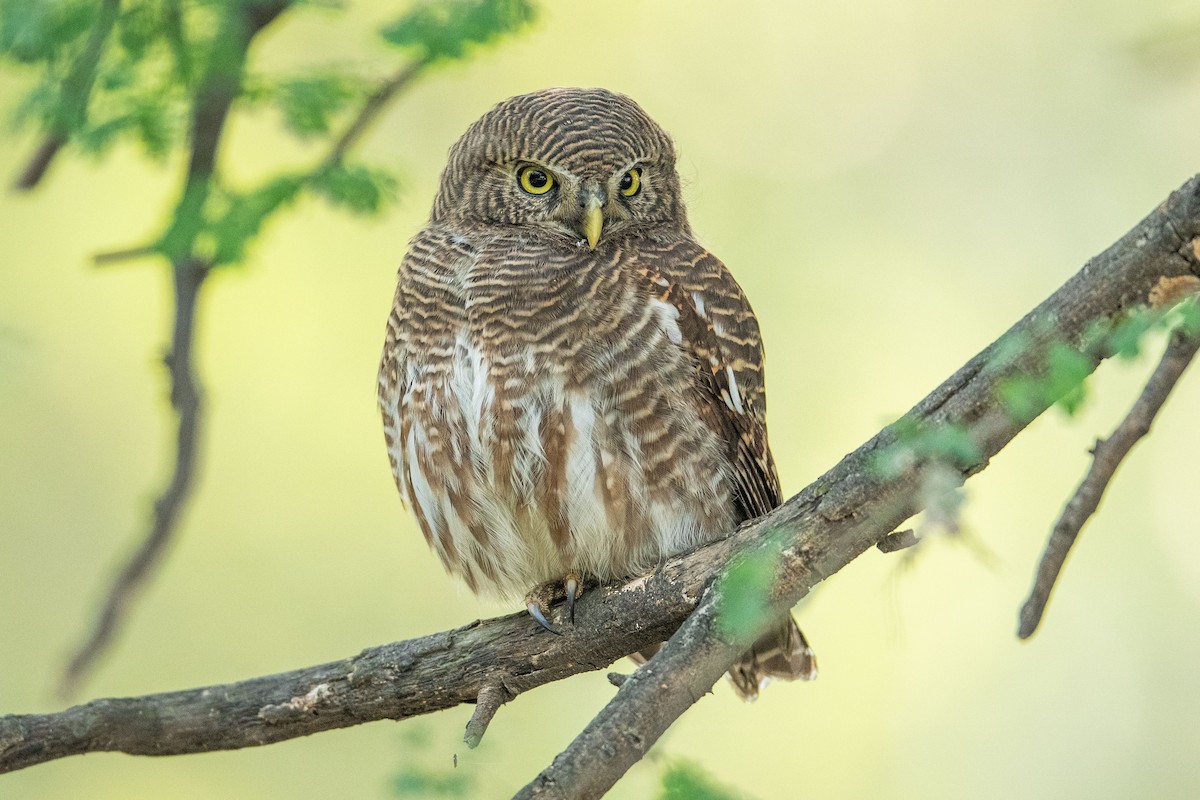
[[[725,447],[694,403],[676,309],[618,269],[480,271],[410,353],[394,447],[446,567],[523,593],[611,579],[732,527]]]

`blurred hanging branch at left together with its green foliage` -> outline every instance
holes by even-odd
[[[41,30],[44,10],[17,4],[13,29]],[[121,0],[88,6],[88,20],[48,35],[0,41],[0,56],[38,65],[42,80],[25,103],[37,110],[43,140],[16,181],[31,188],[72,138],[97,152],[120,140],[136,140],[148,154],[162,156],[176,146],[174,120],[186,115],[188,167],[170,223],[154,241],[95,257],[97,265],[134,258],[163,257],[175,284],[175,324],[164,361],[170,371],[170,398],[176,413],[175,458],[164,488],[154,504],[149,530],[113,581],[95,624],[72,656],[60,682],[73,693],[112,644],[138,591],[173,541],[196,482],[203,391],[192,357],[192,338],[202,287],[210,271],[245,260],[247,246],[265,221],[304,192],[319,196],[352,213],[378,211],[390,194],[386,170],[346,164],[355,145],[384,108],[434,64],[461,61],[480,47],[521,31],[535,17],[530,0],[460,0],[445,13],[442,0],[406,4],[379,31],[384,42],[407,53],[407,64],[380,80],[350,109],[346,128],[335,137],[330,119],[355,96],[356,79],[340,67],[316,78],[263,80],[246,94],[244,73],[250,48],[293,0],[223,0],[218,4],[164,0],[122,13]],[[74,6],[72,6],[73,8]],[[77,10],[78,11],[78,10]],[[71,14],[74,12],[72,11]],[[53,16],[53,14],[52,14]],[[74,28],[90,22],[86,31]],[[26,37],[28,38],[28,37]],[[22,41],[18,41],[22,40]],[[163,67],[163,56],[170,66]],[[65,73],[65,74],[62,74]],[[329,136],[329,150],[305,169],[287,170],[236,191],[218,174],[222,133],[230,108],[241,97],[266,98],[282,112],[284,128],[308,139]],[[91,119],[89,106],[92,108]],[[107,114],[107,116],[104,116]],[[103,118],[103,119],[100,119]]]

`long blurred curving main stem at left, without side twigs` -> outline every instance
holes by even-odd
[[[175,324],[172,349],[166,356],[170,369],[170,402],[178,414],[175,465],[167,488],[154,505],[150,531],[108,590],[103,608],[83,645],[72,656],[60,692],[70,696],[112,642],[138,588],[158,563],[178,529],[179,515],[191,494],[196,474],[202,420],[200,381],[192,359],[196,303],[209,273],[209,264],[197,252],[204,225],[204,203],[216,174],[221,134],[229,107],[241,90],[241,78],[251,42],[283,13],[288,0],[242,0],[229,4],[222,30],[214,38],[205,74],[192,103],[191,157],[174,221],[155,248],[170,259],[175,284]]]

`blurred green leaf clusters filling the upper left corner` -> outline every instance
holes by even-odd
[[[346,151],[355,114],[386,101],[377,92],[388,82],[336,64],[305,74],[242,76],[245,52],[235,34],[268,5],[0,0],[0,58],[37,72],[16,108],[18,122],[96,157],[133,143],[161,161],[187,146],[188,121],[203,113],[202,90],[230,82],[235,108],[269,104],[284,132],[326,144],[328,156],[317,164],[288,168],[248,187],[234,188],[212,175],[203,192],[180,200],[169,228],[151,246],[172,259],[194,254],[210,266],[239,264],[266,222],[305,193],[350,213],[377,213],[395,197],[396,176],[347,162]],[[286,13],[304,11],[305,4],[295,4]],[[404,68],[415,76],[502,41],[534,16],[528,0],[424,0],[380,36],[409,53]]]

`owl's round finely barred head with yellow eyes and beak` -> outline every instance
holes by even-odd
[[[686,229],[671,137],[629,97],[546,89],[511,97],[450,149],[434,222],[521,225],[565,242]]]

